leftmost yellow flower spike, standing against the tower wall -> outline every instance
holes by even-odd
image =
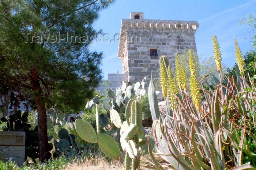
[[[169,62],[165,56],[160,57],[160,84],[162,88],[163,98],[167,97],[167,66]]]

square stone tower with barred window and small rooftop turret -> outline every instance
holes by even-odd
[[[185,49],[196,52],[196,21],[144,19],[143,12],[131,12],[130,19],[122,19],[118,58],[122,61],[124,78],[128,82],[141,81],[145,76],[150,81],[151,72],[159,74],[159,57],[169,58],[175,66],[176,52]],[[110,80],[111,81],[111,80]]]

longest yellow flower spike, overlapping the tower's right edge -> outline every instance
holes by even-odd
[[[195,61],[193,58],[193,55],[189,53],[189,68],[191,72],[191,77],[190,77],[190,90],[191,90],[191,97],[194,105],[196,106],[197,110],[201,109],[200,106],[200,91],[198,88],[198,84],[196,81],[196,73],[195,73]]]

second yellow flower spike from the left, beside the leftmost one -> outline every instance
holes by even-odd
[[[174,95],[178,94],[178,90],[177,90],[177,83],[175,81],[175,78],[172,76],[170,66],[168,66],[167,74],[168,74],[168,91],[170,94],[168,98],[170,103],[169,107],[174,111],[177,106],[177,99],[172,94]]]

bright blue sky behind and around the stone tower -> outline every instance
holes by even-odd
[[[246,32],[252,30],[248,24],[239,25],[243,16],[256,15],[256,0],[116,0],[109,8],[99,13],[94,28],[102,29],[113,39],[120,33],[121,19],[129,19],[130,12],[144,12],[144,19],[192,20],[199,23],[195,33],[197,54],[202,58],[212,56],[212,35],[218,38],[223,63],[236,63],[234,37],[242,54],[252,49]],[[251,35],[252,36],[252,35]],[[121,60],[117,58],[118,42],[95,43],[92,51],[103,51],[102,75],[122,73]]]

